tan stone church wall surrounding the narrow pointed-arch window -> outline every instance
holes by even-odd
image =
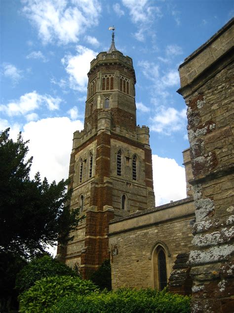
[[[191,247],[192,199],[180,200],[111,221],[109,247],[112,251],[112,286],[158,288],[154,251],[166,252],[167,278],[179,253]]]

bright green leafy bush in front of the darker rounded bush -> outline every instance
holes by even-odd
[[[19,296],[20,311],[24,313],[49,312],[49,307],[61,297],[72,294],[88,295],[98,290],[89,280],[79,277],[54,276],[36,281],[35,285]]]

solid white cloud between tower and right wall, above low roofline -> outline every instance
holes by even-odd
[[[152,156],[156,206],[186,198],[185,169],[173,158]]]

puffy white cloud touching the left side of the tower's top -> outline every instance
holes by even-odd
[[[90,62],[97,55],[83,46],[77,46],[77,55],[67,54],[62,58],[62,63],[69,74],[70,87],[80,92],[87,91],[87,72],[90,69]]]

